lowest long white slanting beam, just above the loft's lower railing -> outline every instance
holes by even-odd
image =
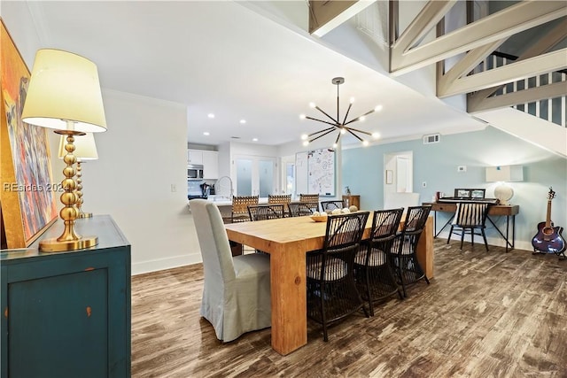
[[[469,113],[485,112],[491,109],[500,109],[517,104],[532,103],[546,98],[567,96],[567,82],[560,81],[553,84],[518,90],[506,95],[485,98],[474,109],[467,109]]]

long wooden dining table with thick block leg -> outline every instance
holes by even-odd
[[[231,223],[225,228],[230,241],[270,254],[272,348],[283,355],[299,349],[307,343],[306,253],[322,249],[326,223],[305,216]],[[364,239],[369,238],[371,228],[372,212]],[[427,277],[432,278],[431,216],[420,237],[417,258]]]

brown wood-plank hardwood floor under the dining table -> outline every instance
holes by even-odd
[[[133,377],[567,377],[567,261],[435,240],[435,278],[288,356],[270,330],[222,344],[198,310],[201,265],[132,278]]]

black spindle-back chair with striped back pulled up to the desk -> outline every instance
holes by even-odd
[[[456,210],[454,212],[453,223],[451,224],[451,230],[449,231],[449,237],[447,237],[447,244],[451,241],[451,235],[461,234],[461,250],[462,242],[465,234],[470,234],[470,243],[475,246],[475,234],[482,235],[485,241],[485,249],[488,251],[488,243],[486,242],[485,235],[485,222],[486,215],[488,214],[488,204],[482,203],[457,203]]]

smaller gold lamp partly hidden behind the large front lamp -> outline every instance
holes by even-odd
[[[65,158],[66,150],[66,138],[65,135],[61,135],[59,139],[59,158]],[[77,208],[78,218],[90,218],[92,217],[92,212],[83,212],[82,204],[84,203],[82,199],[82,163],[88,160],[97,160],[97,144],[95,143],[95,135],[92,133],[87,133],[85,135],[77,136],[74,140],[74,156],[77,158],[77,189],[74,191],[77,197],[77,202],[74,204]]]

